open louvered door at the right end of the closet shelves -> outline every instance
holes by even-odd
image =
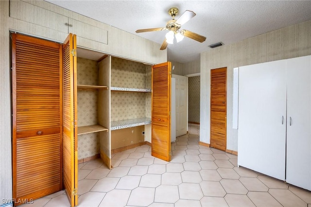
[[[152,68],[151,155],[171,161],[171,63]]]

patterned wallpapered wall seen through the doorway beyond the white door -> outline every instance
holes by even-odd
[[[188,121],[200,123],[200,76],[188,78]]]

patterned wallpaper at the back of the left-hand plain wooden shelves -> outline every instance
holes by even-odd
[[[77,58],[77,84],[98,85],[97,61]],[[97,90],[78,90],[78,126],[97,124]],[[100,153],[98,133],[78,136],[78,159]]]

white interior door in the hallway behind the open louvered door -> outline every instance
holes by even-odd
[[[176,80],[176,137],[188,131],[188,77],[172,75]]]

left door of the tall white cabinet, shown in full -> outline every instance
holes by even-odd
[[[285,180],[286,62],[239,68],[238,165]]]

